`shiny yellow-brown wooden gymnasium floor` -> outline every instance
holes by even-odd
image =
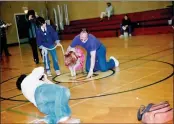
[[[167,100],[173,107],[173,34],[133,36],[128,40],[101,38],[101,41],[107,48],[107,58],[115,56],[120,66],[102,79],[60,83],[70,88],[73,117],[83,123],[140,123],[136,117],[140,105]],[[64,49],[70,42],[61,41]],[[44,115],[26,101],[15,82],[20,74],[30,73],[43,64],[33,62],[28,44],[9,50],[12,56],[1,62],[1,97],[16,101],[1,98],[1,123],[32,123]],[[65,75],[69,71],[60,48],[57,54]],[[52,72],[55,74],[53,69]]]

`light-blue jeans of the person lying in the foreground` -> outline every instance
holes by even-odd
[[[71,115],[69,99],[69,89],[56,84],[43,84],[35,91],[37,108],[47,115],[45,119],[51,124]]]

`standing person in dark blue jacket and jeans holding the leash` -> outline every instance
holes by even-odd
[[[48,52],[52,56],[53,67],[56,72],[56,75],[60,75],[58,57],[56,50],[48,50],[54,48],[55,44],[60,45],[60,40],[58,38],[57,32],[52,28],[52,26],[47,25],[45,20],[42,17],[38,17],[38,22],[40,23],[40,28],[37,29],[37,44],[40,49],[42,49],[42,54],[44,57],[44,66],[48,76],[51,76],[50,71],[50,61],[48,57]]]

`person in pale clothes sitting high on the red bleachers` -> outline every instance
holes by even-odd
[[[110,19],[111,15],[114,14],[114,9],[111,5],[111,3],[107,3],[107,8],[106,8],[106,11],[105,12],[101,12],[100,14],[100,19],[101,21],[103,20],[103,17],[107,16],[108,17],[108,20]]]

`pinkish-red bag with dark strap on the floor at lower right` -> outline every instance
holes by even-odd
[[[173,108],[168,102],[150,103],[147,107],[139,108],[137,118],[144,124],[167,123],[173,120]]]

